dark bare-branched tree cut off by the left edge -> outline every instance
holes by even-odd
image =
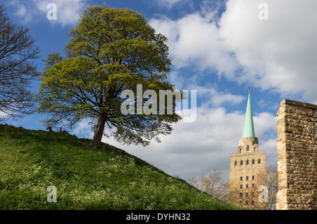
[[[33,110],[34,95],[27,90],[39,76],[31,60],[39,58],[30,29],[14,25],[0,4],[0,111],[23,117]]]

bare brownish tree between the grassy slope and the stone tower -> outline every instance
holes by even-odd
[[[221,180],[221,172],[218,169],[208,170],[206,174],[203,173],[198,178],[189,178],[187,181],[202,192],[223,202],[228,202],[228,181]]]

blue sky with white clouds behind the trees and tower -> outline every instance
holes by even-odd
[[[57,6],[57,20],[46,8]],[[180,122],[161,143],[147,147],[104,141],[154,164],[172,176],[190,178],[214,168],[228,179],[230,154],[242,136],[248,88],[259,150],[267,164],[276,164],[276,112],[288,98],[317,104],[317,1],[314,0],[4,0],[6,13],[18,25],[30,27],[37,40],[42,72],[49,53],[62,52],[68,31],[82,9],[106,4],[143,13],[156,32],[168,37],[173,63],[169,80],[176,88],[197,90],[197,119]],[[268,6],[267,11],[259,7]],[[263,14],[265,13],[265,14]],[[259,15],[267,15],[260,19]],[[37,92],[38,82],[32,83]],[[41,129],[38,114],[8,124]],[[92,138],[87,121],[70,130]]]

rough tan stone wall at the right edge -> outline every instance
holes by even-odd
[[[282,100],[276,209],[317,209],[317,105]]]

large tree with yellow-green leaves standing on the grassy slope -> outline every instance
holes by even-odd
[[[131,9],[89,7],[69,36],[66,57],[51,53],[40,77],[38,110],[51,115],[46,124],[73,127],[89,118],[94,146],[100,145],[105,126],[116,140],[129,145],[148,145],[151,139],[159,141],[159,134],[171,133],[171,124],[180,120],[178,114],[121,111],[126,101],[121,93],[136,94],[137,84],[142,84],[142,91],[173,91],[167,81],[171,65],[167,39],[156,34],[144,15]],[[148,97],[154,99],[152,95]],[[146,100],[141,100],[142,105]]]

